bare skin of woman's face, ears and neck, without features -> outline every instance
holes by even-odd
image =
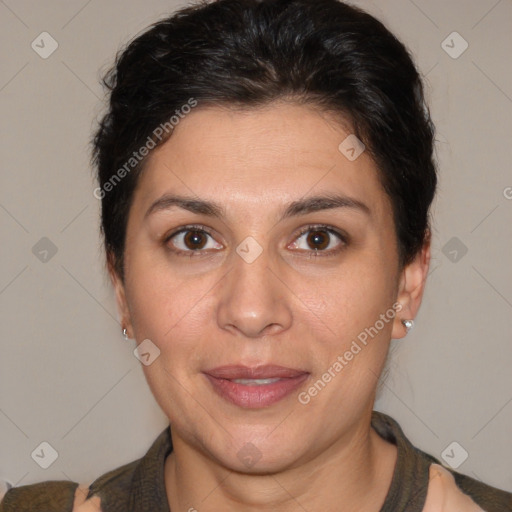
[[[110,271],[128,335],[160,350],[143,369],[171,423],[173,511],[331,511],[340,503],[378,511],[384,502],[397,454],[371,428],[371,411],[390,339],[405,336],[401,319],[420,307],[430,241],[399,268],[375,164],[368,152],[349,161],[338,150],[349,134],[309,106],[199,105],[147,161],[128,219],[124,282]],[[281,219],[288,203],[333,192],[370,214],[343,207]],[[224,215],[177,206],[146,215],[168,193],[214,201]],[[192,257],[194,240],[168,239],[187,224],[211,234]],[[318,242],[299,234],[310,224],[340,230],[347,242],[324,231],[332,255],[315,257]],[[250,264],[236,252],[248,236],[262,249]],[[396,302],[395,318],[301,404],[298,392]],[[278,364],[310,376],[277,404],[248,410],[218,396],[202,373],[225,364]],[[251,467],[237,456],[248,442],[261,454]]]

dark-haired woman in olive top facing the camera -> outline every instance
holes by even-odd
[[[0,509],[512,510],[373,411],[430,261],[433,126],[404,46],[335,0],[220,0],[155,24],[106,85],[108,269],[170,427],[88,488]]]

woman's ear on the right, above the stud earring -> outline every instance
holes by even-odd
[[[407,329],[402,320],[414,320],[418,314],[430,266],[430,241],[431,232],[428,230],[422,249],[401,271],[396,300],[402,305],[402,309],[393,321],[393,339],[404,338]]]

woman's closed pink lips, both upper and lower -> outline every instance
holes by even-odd
[[[283,366],[220,366],[204,372],[213,389],[240,407],[268,407],[295,391],[308,377],[303,370]],[[235,379],[278,379],[264,384],[238,383]]]

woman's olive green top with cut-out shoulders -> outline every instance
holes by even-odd
[[[429,483],[429,466],[442,465],[415,448],[398,423],[373,411],[372,427],[396,444],[398,458],[393,479],[380,512],[422,512]],[[102,512],[170,512],[164,483],[164,462],[172,451],[168,426],[142,458],[97,478],[87,498],[99,496]],[[446,466],[445,466],[446,467]],[[512,512],[512,493],[496,489],[450,468],[458,488],[486,512]],[[0,512],[72,512],[78,483],[47,481],[10,489]]]

